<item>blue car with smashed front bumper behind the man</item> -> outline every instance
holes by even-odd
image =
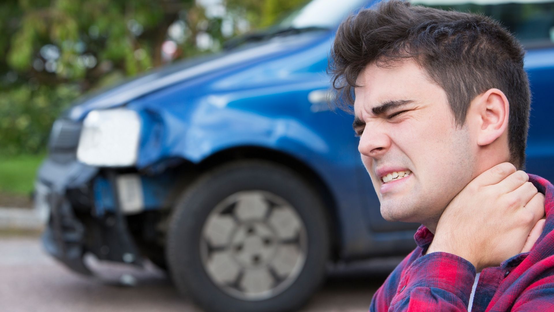
[[[456,3],[423,4],[490,14],[526,45],[527,170],[554,180],[554,4]],[[36,183],[48,253],[86,275],[85,255],[149,260],[203,309],[240,312],[298,309],[330,261],[406,255],[418,224],[381,217],[353,117],[327,103],[336,28],[371,4],[313,0],[222,53],[75,103]]]

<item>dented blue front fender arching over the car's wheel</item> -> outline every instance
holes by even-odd
[[[130,105],[134,109],[142,107],[140,114],[144,120],[137,167],[152,167],[168,159],[199,164],[211,155],[237,147],[259,147],[288,154],[310,168],[329,188],[337,205],[334,222],[340,229],[342,256],[363,254],[372,243],[356,178],[360,170],[353,167],[360,159],[355,145],[353,152],[340,150],[343,143],[337,139],[345,135],[353,138],[348,129],[351,117],[311,110],[307,98],[322,87],[326,86],[295,84],[295,88],[212,94],[181,105]],[[283,88],[283,92],[275,88]],[[345,127],[335,125],[340,118]]]

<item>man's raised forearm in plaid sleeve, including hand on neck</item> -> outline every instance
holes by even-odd
[[[474,264],[481,271],[528,251],[544,226],[535,220],[544,214],[544,197],[529,188],[521,172],[514,173],[511,164],[497,165],[456,195],[439,220],[427,255],[408,265],[391,301],[387,294],[393,292],[386,287],[392,281],[387,279],[375,295],[372,311],[386,311],[388,302],[389,311],[466,311]],[[499,241],[504,244],[495,244]]]

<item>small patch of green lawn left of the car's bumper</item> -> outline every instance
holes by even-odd
[[[29,195],[44,154],[0,156],[0,192]]]

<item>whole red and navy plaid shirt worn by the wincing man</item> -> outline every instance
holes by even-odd
[[[481,271],[473,312],[554,311],[554,187],[529,175],[545,194],[546,223],[530,252]],[[388,276],[371,301],[370,311],[466,311],[475,267],[449,253],[423,255],[433,234],[423,225],[417,248]]]

